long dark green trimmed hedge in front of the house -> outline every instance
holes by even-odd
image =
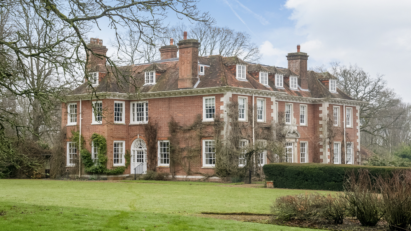
[[[346,173],[367,169],[371,176],[391,175],[406,167],[364,166],[351,164],[275,163],[263,166],[266,180],[275,188],[343,191]]]

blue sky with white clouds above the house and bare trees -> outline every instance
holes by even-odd
[[[300,44],[308,67],[357,64],[372,77],[384,75],[411,103],[410,0],[199,0],[197,6],[215,25],[249,33],[261,64],[287,67],[285,56]],[[165,21],[179,22],[190,23],[175,14]],[[90,37],[108,41],[107,34],[96,30]]]

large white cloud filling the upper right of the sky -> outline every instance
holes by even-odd
[[[411,102],[411,1],[288,0],[284,6],[295,22],[291,36],[304,38],[309,67],[357,63],[372,76],[386,74],[388,85]]]

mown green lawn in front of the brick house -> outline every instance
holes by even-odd
[[[308,231],[193,216],[201,212],[269,213],[271,200],[277,196],[302,192],[186,182],[0,180],[0,230]]]

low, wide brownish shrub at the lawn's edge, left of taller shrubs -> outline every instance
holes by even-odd
[[[291,219],[311,222],[327,219],[342,224],[345,218],[345,201],[339,196],[327,194],[298,194],[281,196],[271,206],[271,212],[278,221]]]

